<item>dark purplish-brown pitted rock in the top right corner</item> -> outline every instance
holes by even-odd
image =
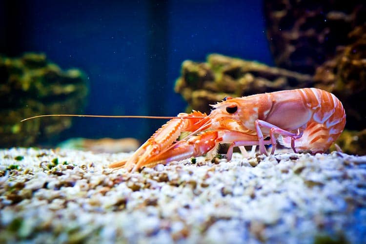
[[[362,0],[264,0],[267,37],[279,67],[314,74],[366,22]]]

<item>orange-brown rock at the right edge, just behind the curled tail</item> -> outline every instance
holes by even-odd
[[[347,114],[347,128],[363,130],[366,124],[366,24],[348,34],[349,44],[316,69],[315,87],[335,94]]]

